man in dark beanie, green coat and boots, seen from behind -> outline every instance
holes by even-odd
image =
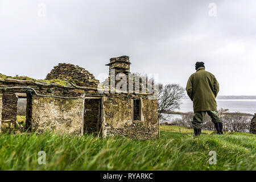
[[[187,94],[193,101],[194,117],[192,121],[194,134],[201,134],[202,124],[207,113],[214,123],[217,133],[222,132],[222,121],[218,115],[216,97],[219,91],[218,81],[212,73],[205,71],[203,62],[196,63],[196,73],[188,79]]]

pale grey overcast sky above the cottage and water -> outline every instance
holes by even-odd
[[[255,18],[255,0],[0,0],[0,73],[44,79],[72,63],[97,78],[128,55],[131,72],[185,87],[204,61],[220,95],[256,95]]]

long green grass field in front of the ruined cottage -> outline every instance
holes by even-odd
[[[160,140],[1,134],[1,170],[256,170],[256,135],[161,126]],[[46,152],[46,165],[38,152]],[[210,165],[209,151],[217,164]]]

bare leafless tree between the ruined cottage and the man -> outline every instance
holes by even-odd
[[[179,84],[158,85],[158,118],[164,111],[180,109],[181,100],[185,96],[185,89]]]

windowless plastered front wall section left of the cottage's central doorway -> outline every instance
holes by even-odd
[[[54,130],[66,134],[81,134],[84,119],[83,103],[82,98],[33,96],[31,131],[45,133]]]

